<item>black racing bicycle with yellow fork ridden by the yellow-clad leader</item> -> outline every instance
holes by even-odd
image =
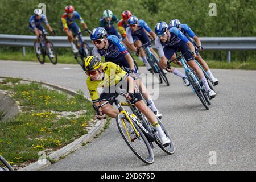
[[[126,94],[121,90],[119,90],[119,94],[126,98]],[[153,142],[158,144],[158,146],[162,148],[162,150],[167,154],[174,154],[174,144],[163,123],[158,120],[164,133],[166,133],[167,137],[171,140],[171,143],[167,144],[166,146],[162,146],[157,131],[147,121],[146,117],[144,117],[144,115],[138,111],[134,104],[131,104],[131,102],[127,100],[126,102],[119,102],[117,96],[118,94],[106,100],[104,104],[98,107],[93,105],[93,107],[99,115],[100,112],[98,109],[108,104],[110,101],[113,101],[115,105],[117,105],[119,110],[119,114],[116,117],[118,130],[134,154],[137,155],[137,157],[146,164],[154,163],[154,153],[152,151],[152,148],[154,148],[154,145],[152,144]],[[135,114],[130,114],[125,109],[123,109],[122,106],[131,107]]]

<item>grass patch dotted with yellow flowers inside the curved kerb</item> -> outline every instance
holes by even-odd
[[[91,102],[80,91],[75,96],[50,90],[35,82],[4,79],[0,89],[19,102],[23,113],[6,122],[0,122],[0,155],[10,164],[38,160],[38,152],[50,154],[88,133],[87,127],[94,118]],[[84,113],[69,113],[84,110]]]

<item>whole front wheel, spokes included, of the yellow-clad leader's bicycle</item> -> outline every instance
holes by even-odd
[[[118,129],[127,145],[131,148],[131,151],[133,151],[134,154],[137,155],[137,157],[144,163],[154,163],[154,154],[152,148],[141,129],[132,121],[135,129],[139,133],[138,137],[133,126],[127,120],[124,114],[118,114],[116,120]]]

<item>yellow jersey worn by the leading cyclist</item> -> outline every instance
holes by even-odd
[[[125,79],[128,73],[123,71],[121,67],[112,62],[105,62],[102,65],[104,76],[102,80],[92,81],[88,76],[86,84],[90,93],[90,98],[92,98],[93,103],[98,102],[100,98],[98,94],[98,88],[106,88],[109,86],[117,85],[119,81]]]

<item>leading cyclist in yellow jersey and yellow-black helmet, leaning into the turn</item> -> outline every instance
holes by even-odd
[[[121,85],[120,88],[126,88],[127,99],[131,100],[131,95],[134,96],[135,99],[132,103],[146,116],[148,121],[150,121],[152,126],[154,126],[158,131],[162,144],[164,145],[171,142],[166,134],[164,134],[155,114],[146,106],[142,100],[141,94],[137,92],[134,79],[123,71],[121,67],[112,62],[102,63],[100,58],[97,56],[89,56],[84,60],[82,68],[88,75],[86,84],[94,105],[100,106],[100,104],[104,104],[104,102],[109,98],[118,96],[116,87],[119,87],[117,85]],[[103,92],[98,94],[98,88],[102,87],[104,88]],[[109,92],[112,91],[112,88],[114,88],[114,93]],[[113,102],[110,102],[102,106],[99,109],[100,115],[98,115],[98,118],[104,118],[104,114],[109,117],[116,118],[119,111],[114,109],[112,105]]]

